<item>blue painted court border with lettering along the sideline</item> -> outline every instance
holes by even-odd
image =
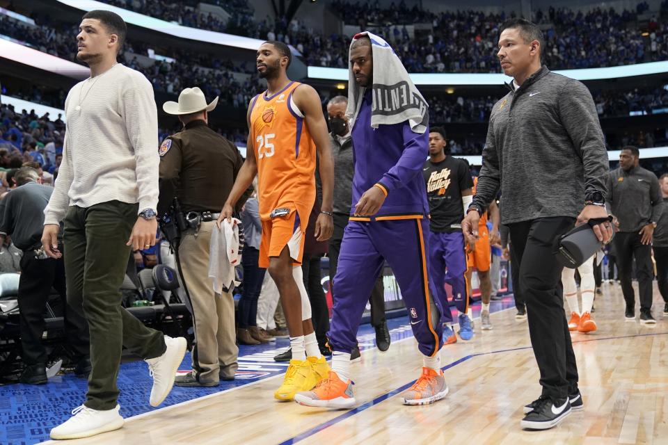
[[[491,312],[514,307],[511,296],[492,303]],[[477,316],[480,303],[476,302],[472,307]],[[393,343],[413,338],[407,316],[389,318],[388,329]],[[376,348],[376,334],[372,326],[360,325],[357,337],[360,350]],[[283,375],[288,364],[274,362],[273,355],[282,353],[288,347],[288,339],[258,346],[239,346],[239,371],[234,381],[221,382],[219,387],[213,388],[174,387],[160,408]],[[191,369],[190,360],[188,353],[179,369]],[[117,383],[120,414],[126,419],[159,410],[148,405],[152,379],[143,361],[137,359],[121,364]],[[0,445],[31,445],[47,440],[49,430],[69,419],[71,410],[84,402],[86,387],[86,379],[74,377],[72,373],[51,378],[47,385],[0,386]]]

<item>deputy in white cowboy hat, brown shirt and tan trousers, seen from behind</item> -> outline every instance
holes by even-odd
[[[165,113],[178,116],[183,130],[166,138],[159,148],[158,214],[164,215],[178,197],[189,219],[200,220],[198,229],[182,234],[177,255],[191,300],[197,343],[193,371],[175,379],[175,385],[181,387],[216,387],[220,380],[234,379],[237,371],[232,293],[223,291],[216,296],[207,272],[212,229],[244,159],[233,143],[209,129],[209,112],[216,104],[218,97],[207,104],[202,90],[195,87],[183,90],[179,102],[162,106]],[[251,192],[237,204],[237,211]]]

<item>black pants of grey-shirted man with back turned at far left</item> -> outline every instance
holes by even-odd
[[[84,317],[67,304],[65,264],[63,259],[35,259],[34,250],[25,250],[19,278],[19,324],[22,359],[26,365],[45,364],[47,350],[42,345],[45,309],[51,288],[61,296],[65,335],[74,359],[90,355],[88,324]]]

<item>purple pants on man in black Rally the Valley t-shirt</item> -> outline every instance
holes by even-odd
[[[429,235],[429,267],[436,289],[436,302],[443,323],[452,322],[450,303],[445,293],[445,283],[452,286],[452,296],[459,312],[468,311],[468,285],[466,283],[466,250],[461,232]],[[447,268],[447,273],[446,273]]]

